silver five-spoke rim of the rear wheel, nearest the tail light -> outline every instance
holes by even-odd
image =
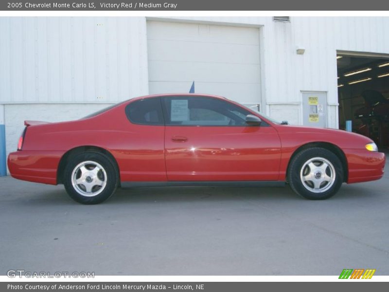
[[[77,193],[85,197],[94,197],[106,188],[106,170],[94,161],[77,164],[71,173],[71,184]]]

